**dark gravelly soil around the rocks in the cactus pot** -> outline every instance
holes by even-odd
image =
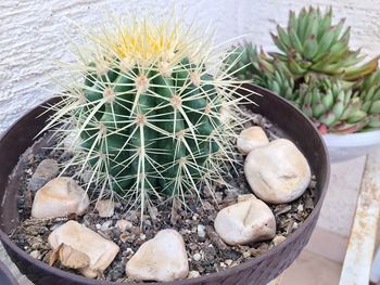
[[[283,138],[276,127],[258,115],[253,115],[253,120],[246,124],[263,127],[269,140]],[[34,192],[27,190],[27,182],[37,168],[38,164],[46,158],[53,158],[59,163],[69,158],[69,155],[61,151],[51,152],[40,150],[38,153],[27,153],[27,166],[23,169],[20,180],[18,192],[18,219],[20,225],[10,234],[12,241],[33,257],[49,262],[51,249],[48,245],[48,236],[59,224],[72,219],[84,223],[88,228],[98,232],[102,236],[114,241],[121,251],[115,260],[106,269],[103,276],[107,281],[128,281],[125,276],[125,264],[129,258],[138,250],[139,246],[163,229],[175,229],[183,237],[189,265],[192,276],[198,274],[210,274],[235,267],[250,258],[262,255],[277,244],[283,242],[286,237],[297,229],[297,226],[308,217],[314,208],[315,178],[299,199],[283,205],[269,205],[277,221],[277,235],[273,241],[253,243],[245,246],[228,246],[215,233],[213,221],[219,209],[237,203],[238,195],[251,193],[243,172],[243,157],[237,167],[238,173],[229,173],[227,182],[232,186],[227,190],[225,186],[216,185],[215,199],[207,191],[201,190],[203,205],[199,200],[190,200],[189,208],[183,209],[179,203],[174,205],[160,205],[150,210],[150,215],[140,221],[140,213],[126,212],[127,206],[121,203],[115,204],[115,213],[111,218],[100,218],[91,206],[83,217],[65,217],[46,220],[31,220],[30,208]],[[65,176],[73,176],[75,169],[68,169]],[[178,204],[178,205],[176,205]],[[172,207],[173,206],[173,207]],[[131,229],[121,232],[116,222],[121,219],[132,223]],[[142,224],[142,228],[140,226]],[[56,264],[60,267],[59,264]],[[67,270],[67,269],[64,269]]]

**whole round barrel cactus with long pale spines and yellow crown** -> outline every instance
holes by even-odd
[[[76,76],[47,129],[60,126],[60,146],[72,138],[66,168],[88,171],[100,196],[129,198],[141,212],[173,197],[186,203],[233,163],[239,81],[195,30],[131,18],[89,34],[93,50],[77,49]]]

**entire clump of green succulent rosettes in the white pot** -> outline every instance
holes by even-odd
[[[331,23],[331,9],[290,12],[288,28],[278,25],[278,35],[271,35],[280,52],[258,52],[244,42],[226,62],[240,79],[295,104],[322,133],[380,128],[379,57],[357,65],[364,56],[349,47],[350,27],[344,20]]]

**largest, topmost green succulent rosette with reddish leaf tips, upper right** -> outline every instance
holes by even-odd
[[[356,66],[365,56],[360,55],[360,50],[350,49],[351,28],[344,27],[344,21],[332,25],[332,9],[325,14],[313,7],[302,9],[297,15],[290,11],[288,27],[278,25],[278,34],[271,34],[281,51],[271,55],[287,63],[296,78],[308,73],[340,76],[344,80],[368,75],[377,68],[378,57]]]

